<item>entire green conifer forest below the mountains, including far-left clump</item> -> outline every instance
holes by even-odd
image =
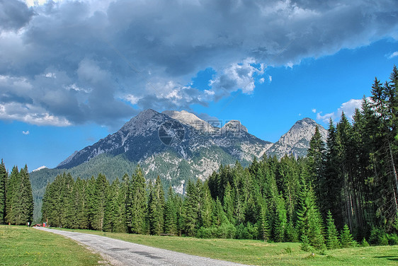
[[[330,120],[326,143],[316,129],[307,156],[263,157],[244,168],[220,166],[188,181],[184,195],[161,177],[135,173],[109,183],[63,173],[49,183],[42,221],[69,229],[300,241],[303,249],[398,243],[398,69],[363,97],[352,122]],[[26,168],[0,168],[0,221],[31,221]]]

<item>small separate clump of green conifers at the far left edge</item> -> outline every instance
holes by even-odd
[[[10,175],[3,159],[0,163],[0,224],[27,225],[33,221],[33,195],[28,166]]]

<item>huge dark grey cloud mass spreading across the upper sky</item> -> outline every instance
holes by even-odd
[[[137,113],[132,106],[189,110],[239,89],[251,93],[267,65],[398,38],[394,0],[62,1],[33,8],[0,0],[0,7],[0,119],[45,124],[47,117],[50,125],[117,126]],[[207,67],[216,72],[210,90],[187,85]]]

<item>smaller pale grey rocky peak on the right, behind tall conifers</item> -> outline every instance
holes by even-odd
[[[298,156],[306,156],[309,141],[314,135],[316,127],[319,128],[319,133],[326,143],[327,130],[311,118],[306,117],[295,122],[295,125],[266,151],[266,154],[270,156],[276,155],[278,158],[283,157],[285,154],[292,154],[296,158]]]

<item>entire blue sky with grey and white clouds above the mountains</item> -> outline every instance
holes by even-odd
[[[0,0],[0,158],[54,168],[147,108],[277,141],[394,64],[396,0]]]

